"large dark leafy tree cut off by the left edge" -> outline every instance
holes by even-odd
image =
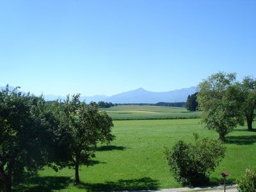
[[[0,92],[0,183],[6,191],[47,163],[53,122],[42,97],[10,91],[8,86]]]

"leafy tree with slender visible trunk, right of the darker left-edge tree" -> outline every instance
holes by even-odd
[[[79,166],[89,165],[95,156],[97,143],[109,143],[114,139],[111,118],[99,111],[95,102],[86,105],[79,101],[79,94],[73,95],[58,106],[61,122],[61,137],[58,145],[61,150],[56,153],[57,164],[61,167],[75,168],[74,184],[79,184]],[[57,113],[56,113],[57,114]]]

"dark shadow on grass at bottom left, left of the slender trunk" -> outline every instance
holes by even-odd
[[[13,191],[51,192],[52,190],[65,189],[70,183],[72,183],[70,177],[33,177],[26,184],[17,186]]]

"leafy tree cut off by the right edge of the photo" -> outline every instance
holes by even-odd
[[[246,117],[248,131],[253,131],[252,122],[255,117],[254,110],[256,107],[256,79],[252,77],[244,77],[241,83],[241,89],[243,91],[243,112]]]

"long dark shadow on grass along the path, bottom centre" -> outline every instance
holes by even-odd
[[[105,182],[96,184],[81,183],[77,188],[86,189],[87,191],[124,191],[140,189],[158,189],[159,181],[150,177],[141,179],[118,180],[117,182]]]

